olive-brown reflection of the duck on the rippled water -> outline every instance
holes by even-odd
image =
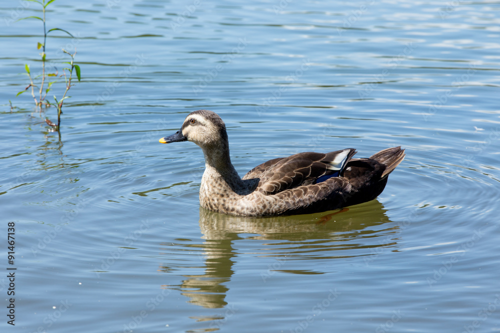
[[[223,215],[200,208],[199,227],[203,234],[204,273],[185,275],[179,289],[189,302],[205,308],[222,308],[233,274],[238,240],[269,240],[252,248],[255,256],[276,257],[277,261],[370,256],[377,248],[396,245],[398,227],[390,224],[377,200],[348,210],[310,215],[247,218]],[[378,240],[374,240],[374,239]],[[277,242],[276,242],[277,241]],[[192,244],[191,244],[192,246]],[[325,252],[326,251],[326,252]],[[242,259],[239,259],[240,261]],[[292,274],[322,274],[321,271],[281,270]],[[255,272],[260,274],[262,272]]]

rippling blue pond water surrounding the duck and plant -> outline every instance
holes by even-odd
[[[75,36],[51,32],[47,57],[76,47],[82,75],[60,142],[14,97],[41,22],[13,20],[38,7],[1,7],[2,267],[17,268],[2,332],[500,329],[498,3],[47,8],[47,28]],[[225,121],[241,175],[300,151],[407,155],[376,200],[329,220],[206,212],[200,149],[157,142],[201,108]]]

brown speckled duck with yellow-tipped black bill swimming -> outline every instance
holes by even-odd
[[[225,124],[215,112],[193,111],[177,132],[159,139],[182,141],[198,145],[205,158],[200,207],[234,216],[310,214],[371,201],[405,156],[400,146],[369,158],[353,158],[353,148],[303,152],[273,158],[241,178],[231,163]]]

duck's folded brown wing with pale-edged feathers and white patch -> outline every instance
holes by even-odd
[[[301,185],[321,183],[340,176],[356,152],[343,149],[329,153],[298,153],[276,158],[251,169],[243,179],[259,178],[255,191],[272,195]]]

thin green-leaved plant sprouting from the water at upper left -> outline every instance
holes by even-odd
[[[73,83],[71,83],[71,80],[73,78],[73,70],[76,74],[76,78],[78,79],[78,82],[80,81],[81,79],[81,76],[80,76],[80,67],[74,63],[74,56],[76,55],[76,48],[74,50],[73,53],[70,53],[68,51],[66,51],[65,49],[62,49],[62,52],[64,54],[67,54],[68,56],[71,57],[71,60],[70,61],[65,61],[65,62],[62,62],[64,64],[68,64],[68,66],[64,67],[62,69],[62,74],[58,74],[58,71],[57,69],[55,70],[55,73],[47,73],[46,72],[46,53],[45,53],[45,45],[46,45],[46,40],[47,40],[47,35],[48,33],[52,32],[52,31],[62,31],[66,34],[68,34],[69,36],[71,36],[72,38],[75,38],[71,33],[69,33],[68,31],[64,30],[64,29],[61,29],[61,28],[51,28],[47,31],[46,29],[46,19],[45,19],[45,10],[46,10],[46,7],[54,2],[55,0],[42,0],[42,1],[38,1],[38,0],[26,0],[26,1],[30,1],[30,2],[36,2],[36,3],[39,3],[42,7],[42,17],[39,17],[39,16],[27,16],[27,17],[23,17],[23,18],[20,18],[18,20],[22,20],[22,19],[27,19],[27,18],[32,18],[32,19],[39,19],[43,22],[43,43],[40,43],[40,42],[37,42],[36,44],[36,48],[38,50],[41,49],[41,53],[40,54],[40,57],[41,57],[41,74],[39,75],[35,75],[35,76],[32,76],[31,75],[31,70],[29,68],[29,65],[28,64],[25,64],[24,65],[24,70],[26,71],[26,74],[29,78],[29,85],[24,88],[24,90],[21,90],[17,93],[16,96],[19,96],[20,94],[22,94],[23,92],[27,91],[29,88],[30,91],[31,91],[31,96],[33,96],[33,99],[34,99],[34,103],[36,105],[36,108],[41,112],[42,111],[42,107],[45,106],[45,107],[49,107],[49,106],[54,106],[56,107],[57,109],[57,123],[53,123],[51,122],[48,118],[45,118],[45,122],[47,123],[47,125],[51,126],[55,131],[59,131],[59,125],[60,125],[60,115],[62,114],[62,105],[64,103],[64,100],[66,98],[69,98],[70,96],[67,96],[67,92],[69,90],[69,88],[74,85]],[[55,79],[53,81],[50,81],[50,78],[51,77],[54,77]],[[57,97],[54,95],[54,101],[55,102],[50,102],[46,99],[47,97],[47,94],[48,92],[51,90],[51,87],[52,85],[57,82],[57,77],[61,78],[61,77],[64,77],[64,84],[65,84],[65,90],[64,90],[64,93],[62,94],[62,97],[60,99],[57,99]],[[46,88],[44,88],[45,86],[45,83],[46,84]],[[36,90],[35,90],[36,88]]]

